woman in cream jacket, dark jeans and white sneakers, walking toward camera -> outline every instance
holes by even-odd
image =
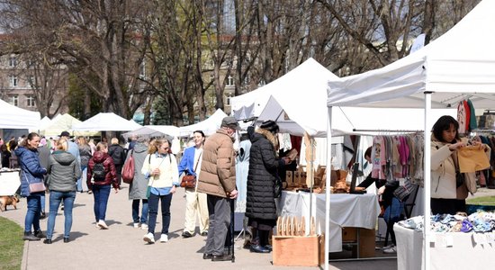
[[[168,241],[170,226],[170,203],[172,194],[179,185],[179,173],[174,154],[170,152],[170,143],[166,139],[156,139],[149,143],[148,156],[142,166],[141,173],[148,179],[148,233],[144,240],[155,243],[155,226],[157,223],[158,202],[161,202],[162,229],[160,242]]]

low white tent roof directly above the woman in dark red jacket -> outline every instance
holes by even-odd
[[[127,120],[113,112],[100,112],[93,117],[73,126],[79,131],[123,131],[137,130],[141,127],[137,122]]]

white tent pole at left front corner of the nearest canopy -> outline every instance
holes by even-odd
[[[329,122],[327,125],[327,174],[325,178],[325,270],[329,270],[329,235],[330,235],[330,175],[332,169],[332,107],[329,110]]]

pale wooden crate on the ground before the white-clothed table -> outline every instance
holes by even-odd
[[[325,236],[274,236],[274,266],[321,266],[325,261]]]

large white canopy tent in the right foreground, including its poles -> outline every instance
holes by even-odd
[[[459,101],[467,98],[477,109],[495,107],[495,50],[492,48],[495,43],[494,13],[495,1],[484,0],[454,28],[410,56],[364,74],[330,80],[327,103],[329,114],[334,113],[336,106],[424,108],[424,178],[429,179],[429,129],[436,121],[431,115],[431,108],[456,107]],[[383,117],[388,115],[383,114]],[[333,129],[333,124],[329,121],[329,130]],[[380,126],[376,127],[381,129]],[[328,139],[331,136],[329,132]],[[331,154],[331,148],[328,151]],[[328,190],[327,198],[329,195]],[[428,222],[429,197],[430,183],[425,181],[425,221]],[[328,215],[329,200],[326,203]],[[326,230],[328,226],[326,224]],[[425,226],[425,269],[430,267],[431,240],[429,227]],[[328,269],[326,254],[325,268]]]

